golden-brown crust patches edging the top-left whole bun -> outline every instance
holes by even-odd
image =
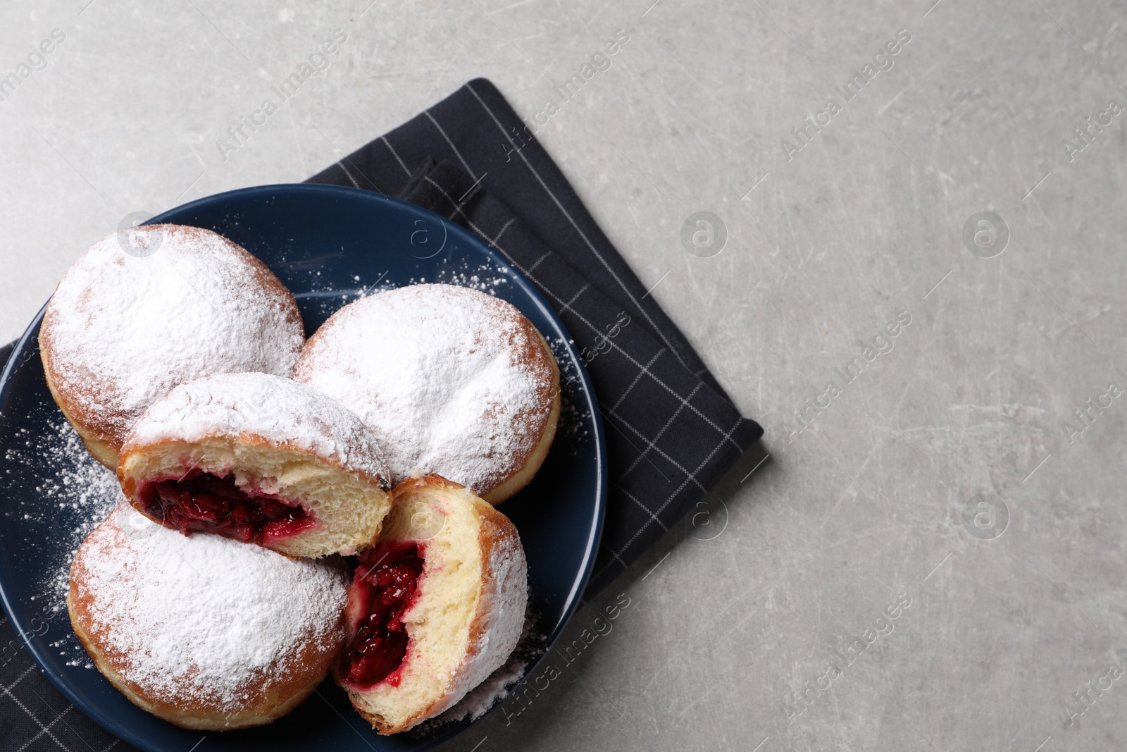
[[[202,236],[205,232],[201,228],[178,224],[149,227],[175,227],[178,232],[183,232],[189,238]],[[298,301],[293,293],[256,256],[233,241],[228,240],[227,242],[232,253],[250,268],[250,273],[260,285],[263,294],[284,311],[286,324],[301,330],[303,326],[301,311],[298,309]],[[69,364],[70,377],[63,372],[61,363],[60,368],[52,364],[55,354],[53,329],[56,316],[54,298],[52,298],[51,302],[47,303],[43,322],[39,325],[39,354],[47,379],[47,388],[51,390],[55,404],[59,405],[59,409],[74,426],[82,443],[90,450],[94,458],[107,468],[114,469],[117,467],[117,453],[130,427],[141,416],[119,407],[114,384],[82,368],[81,363]],[[95,406],[100,409],[95,409]]]

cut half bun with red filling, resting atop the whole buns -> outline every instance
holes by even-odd
[[[165,527],[310,557],[375,542],[388,477],[356,415],[266,373],[176,387],[133,426],[117,466],[130,503]]]

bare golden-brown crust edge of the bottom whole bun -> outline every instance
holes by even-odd
[[[193,700],[196,693],[190,691],[177,692],[177,702],[169,702],[137,682],[125,679],[123,672],[127,670],[131,656],[114,648],[108,640],[107,628],[103,626],[99,629],[98,622],[94,620],[91,611],[95,593],[86,587],[85,565],[89,546],[106,545],[106,541],[97,537],[99,531],[108,525],[117,534],[124,534],[115,522],[119,508],[122,507],[116,507],[79,548],[71,565],[66,610],[74,634],[94,658],[98,671],[131,702],[184,728],[228,731],[258,726],[284,716],[298,707],[325,680],[344,647],[344,613],[339,614],[336,627],[326,632],[327,637],[321,640],[309,639],[298,647],[296,653],[291,656],[289,670],[283,671],[279,666],[274,666],[273,670],[251,678],[242,692],[245,700],[241,707],[234,710]]]

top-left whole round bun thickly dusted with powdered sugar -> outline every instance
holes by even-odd
[[[51,395],[110,469],[133,423],[172,387],[234,371],[289,377],[303,342],[293,294],[261,262],[178,224],[94,244],[39,328]]]

